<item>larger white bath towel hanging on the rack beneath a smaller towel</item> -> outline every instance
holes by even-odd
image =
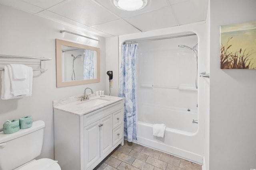
[[[33,70],[31,67],[27,67],[27,78],[24,79],[28,81],[28,89],[24,90],[26,91],[26,94],[20,94],[20,95],[14,95],[13,94],[13,89],[12,89],[12,84],[11,84],[11,75],[10,70],[12,72],[12,69],[10,68],[10,65],[4,66],[4,71],[2,71],[2,90],[1,90],[1,99],[2,100],[7,100],[7,99],[12,99],[12,98],[22,98],[26,96],[31,96],[32,95],[32,82],[33,82]],[[19,90],[19,89],[18,89]],[[20,90],[19,92],[21,92]]]

